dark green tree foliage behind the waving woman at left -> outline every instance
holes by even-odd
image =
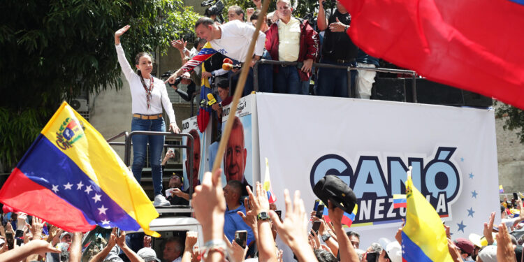
[[[61,101],[122,87],[117,29],[131,25],[122,43],[133,59],[165,52],[198,19],[182,0],[6,0],[0,8],[0,162],[8,170]]]

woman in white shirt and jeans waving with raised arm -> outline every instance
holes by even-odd
[[[169,117],[169,130],[180,133],[175,122],[175,112],[173,105],[169,101],[166,85],[162,80],[151,75],[153,70],[152,57],[147,52],[140,52],[136,55],[135,64],[138,71],[135,73],[129,65],[124,54],[124,49],[120,45],[120,36],[129,29],[129,25],[122,27],[115,32],[115,48],[117,49],[118,62],[122,68],[122,73],[126,76],[129,87],[131,88],[131,110],[133,120],[131,121],[131,131],[166,131],[166,124],[162,118],[162,107],[166,110]],[[170,205],[169,201],[162,196],[162,170],[161,154],[163,150],[164,136],[133,136],[133,165],[131,170],[136,180],[140,182],[142,168],[145,163],[147,152],[147,141],[150,143],[150,163],[154,188],[154,205]]]

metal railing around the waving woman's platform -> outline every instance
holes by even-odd
[[[109,138],[106,140],[109,145],[123,145],[124,146],[124,163],[126,166],[131,166],[131,147],[133,146],[133,136],[137,135],[145,135],[145,136],[170,136],[175,138],[187,138],[187,145],[169,145],[164,143],[163,148],[166,147],[172,147],[172,148],[183,148],[189,150],[188,156],[187,156],[187,177],[189,177],[189,198],[193,196],[193,155],[194,152],[194,140],[193,136],[191,136],[189,133],[171,133],[171,132],[158,132],[158,131],[132,131],[131,133],[128,133],[127,131],[124,131],[122,133],[119,133],[117,136],[113,136],[112,138]],[[115,142],[117,138],[121,138],[124,136],[124,142]],[[147,143],[149,145],[149,143]],[[198,174],[196,174],[198,175]]]

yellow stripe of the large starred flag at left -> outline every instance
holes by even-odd
[[[150,222],[159,217],[159,213],[115,150],[84,117],[64,102],[41,133],[50,141],[57,140],[57,131],[73,121],[78,127],[75,136],[68,141],[69,145],[57,145],[57,148],[135,219],[147,235],[159,237],[159,233],[149,229]]]

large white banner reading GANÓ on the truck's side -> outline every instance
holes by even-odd
[[[269,159],[283,211],[284,189],[300,190],[312,210],[314,184],[338,175],[358,198],[351,231],[361,248],[394,240],[405,209],[393,209],[393,194],[405,194],[413,166],[453,238],[482,235],[490,212],[500,221],[493,110],[281,94],[256,94],[256,104],[259,163]]]

